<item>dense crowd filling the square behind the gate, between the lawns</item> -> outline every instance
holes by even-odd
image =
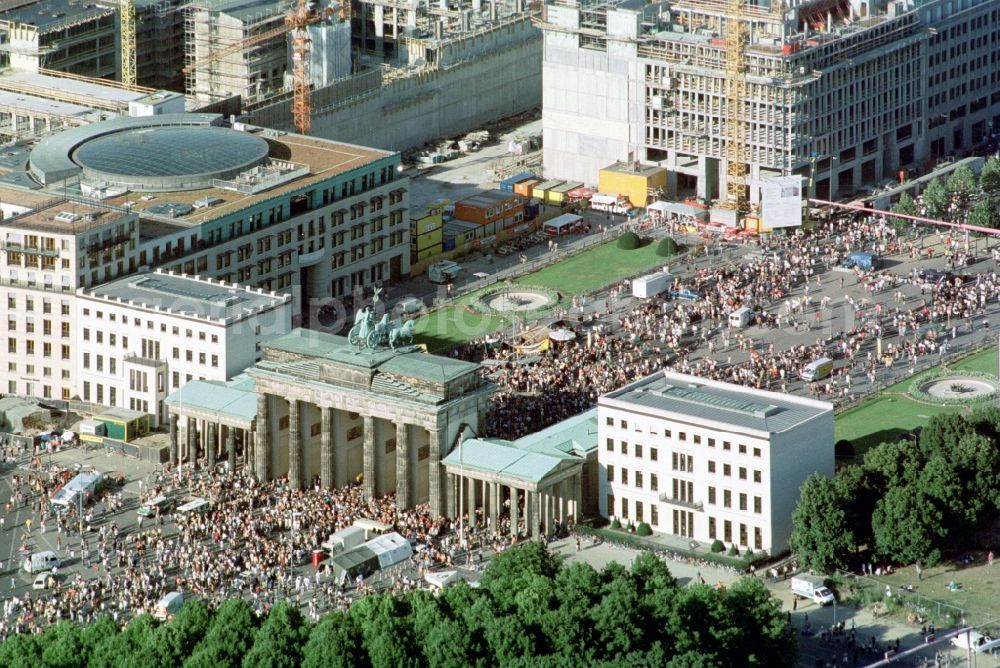
[[[942,236],[939,241],[949,258],[962,256],[956,238]],[[605,300],[609,306],[582,316],[576,339],[553,343],[540,356],[483,342],[452,354],[490,360],[486,372],[500,391],[485,432],[518,438],[580,413],[601,394],[662,368],[788,392],[803,367],[831,357],[844,361],[831,377],[808,384],[808,391],[828,400],[850,398],[855,383],[874,384],[882,369],[903,364],[913,370],[918,358],[945,352],[949,340],[975,328],[987,303],[1000,292],[995,270],[927,277],[887,269],[855,269],[853,275],[839,276],[829,271],[853,251],[914,257],[922,252],[918,241],[900,235],[883,218],[840,217],[811,235],[774,238],[739,261],[676,278],[673,289],[690,290],[697,301],[657,300],[616,311],[614,305],[624,303],[619,296],[629,290],[623,281],[611,287]],[[829,292],[837,283],[844,288],[847,281],[864,288],[865,296],[845,292],[837,309],[829,296],[815,297],[818,288]],[[919,285],[924,298],[907,299],[906,284]],[[765,345],[728,326],[729,313],[740,307],[754,312],[753,325],[818,336],[810,345]]]

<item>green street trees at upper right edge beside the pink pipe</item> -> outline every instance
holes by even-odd
[[[961,165],[951,173],[947,181],[933,179],[924,189],[924,214],[928,218],[948,217],[951,204],[954,202],[959,209],[964,209],[978,194],[982,194],[969,210],[969,224],[979,227],[1000,227],[1000,159],[992,157],[983,165],[979,178],[965,165]],[[907,216],[920,215],[916,203],[908,193],[903,193],[899,201],[892,207],[894,213]],[[899,225],[906,225],[903,218],[895,219]],[[956,221],[958,222],[958,221]]]

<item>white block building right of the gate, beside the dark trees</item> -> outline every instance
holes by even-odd
[[[672,372],[598,402],[599,508],[742,551],[788,547],[799,488],[834,474],[833,405]]]

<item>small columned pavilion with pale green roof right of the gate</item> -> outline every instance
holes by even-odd
[[[597,410],[516,441],[467,438],[444,460],[449,517],[538,538],[597,514]]]

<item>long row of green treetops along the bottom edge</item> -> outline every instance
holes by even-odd
[[[61,622],[0,645],[8,668],[344,666],[792,666],[798,645],[756,579],[679,587],[663,561],[564,566],[538,543],[508,550],[482,586],[380,594],[311,624],[280,604],[187,603],[166,624]]]

